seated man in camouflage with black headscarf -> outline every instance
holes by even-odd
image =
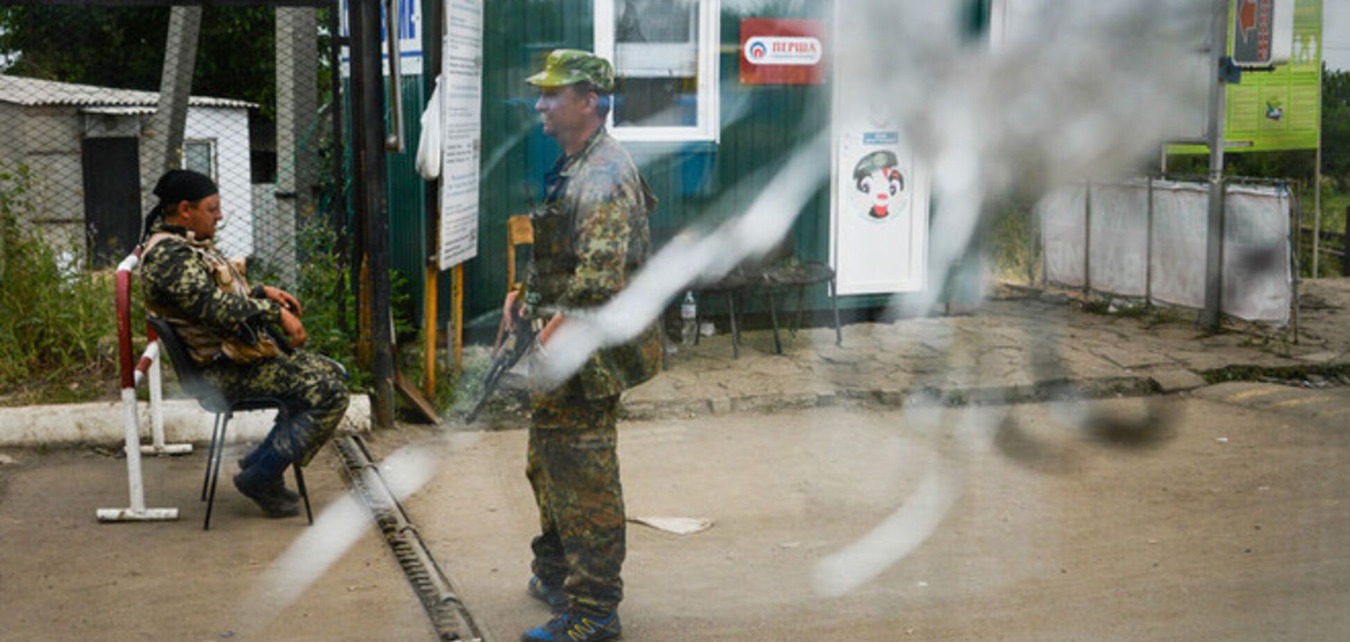
[[[140,278],[146,311],[174,326],[202,374],[225,399],[267,396],[286,404],[267,438],[239,461],[235,488],[267,516],[300,514],[282,473],[319,451],[347,411],[336,362],[285,351],[265,331],[278,323],[292,347],[305,343],[300,301],[267,285],[250,288],[242,264],[216,251],[220,222],[216,184],[190,170],[170,170],[155,184],[159,204],[146,219]]]

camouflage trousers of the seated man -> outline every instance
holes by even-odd
[[[205,377],[225,399],[273,397],[286,404],[267,442],[304,466],[332,438],[347,412],[347,387],[340,366],[313,353],[278,354],[252,364],[216,364]]]

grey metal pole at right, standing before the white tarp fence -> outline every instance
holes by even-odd
[[[1214,0],[1210,30],[1210,216],[1204,255],[1204,327],[1219,330],[1223,305],[1223,108],[1228,61],[1228,0]]]

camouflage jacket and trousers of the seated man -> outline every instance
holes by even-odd
[[[347,411],[347,388],[335,362],[310,353],[279,353],[247,362],[238,337],[281,320],[281,307],[250,289],[238,264],[184,227],[158,223],[142,255],[146,310],[178,328],[202,374],[225,399],[267,396],[284,401],[289,419],[269,439],[279,453],[305,465]]]

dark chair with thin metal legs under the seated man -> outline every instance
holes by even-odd
[[[169,361],[173,362],[173,369],[178,374],[178,382],[182,384],[182,389],[192,395],[202,410],[216,415],[216,420],[211,427],[211,447],[207,450],[207,470],[201,478],[201,500],[207,503],[207,516],[201,523],[201,528],[209,530],[211,511],[216,503],[216,483],[220,477],[220,462],[225,457],[225,431],[230,427],[230,419],[234,418],[235,412],[275,410],[279,423],[288,416],[286,404],[273,397],[225,400],[207,381],[197,362],[188,355],[186,346],[184,346],[178,332],[169,322],[147,316],[146,323],[154,330],[163,351],[169,353]],[[305,516],[313,524],[315,514],[309,507],[309,491],[305,489],[305,476],[301,473],[298,465],[292,464],[290,468],[296,472],[296,489],[300,492],[300,497],[305,500]]]

